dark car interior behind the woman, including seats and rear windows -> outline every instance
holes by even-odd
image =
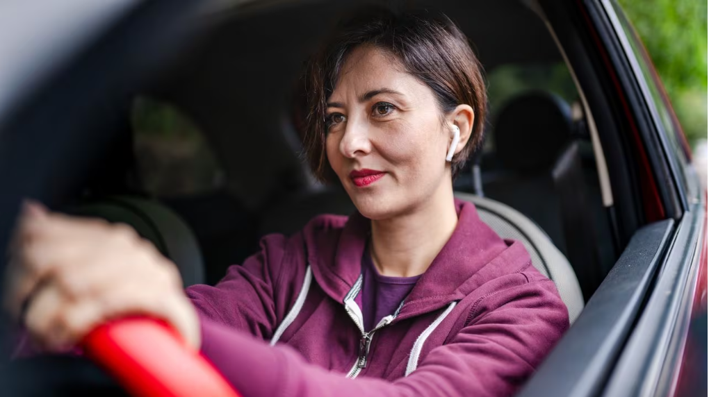
[[[454,188],[525,243],[573,320],[618,255],[579,93],[532,8],[448,6],[436,8],[474,43],[490,104],[484,144]],[[134,226],[185,285],[216,284],[265,234],[352,213],[344,190],[304,163],[300,115],[303,65],[347,10],[246,4],[206,16],[203,38],[121,108],[120,142],[67,211]]]

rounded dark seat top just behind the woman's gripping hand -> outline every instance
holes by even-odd
[[[128,224],[177,265],[185,287],[204,282],[204,265],[196,237],[176,213],[159,202],[113,196],[81,205],[69,213]]]

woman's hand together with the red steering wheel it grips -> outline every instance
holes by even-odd
[[[49,351],[82,345],[136,396],[238,396],[199,355],[177,267],[128,226],[28,202],[6,281],[6,309],[35,340]],[[135,315],[152,318],[125,318]]]

